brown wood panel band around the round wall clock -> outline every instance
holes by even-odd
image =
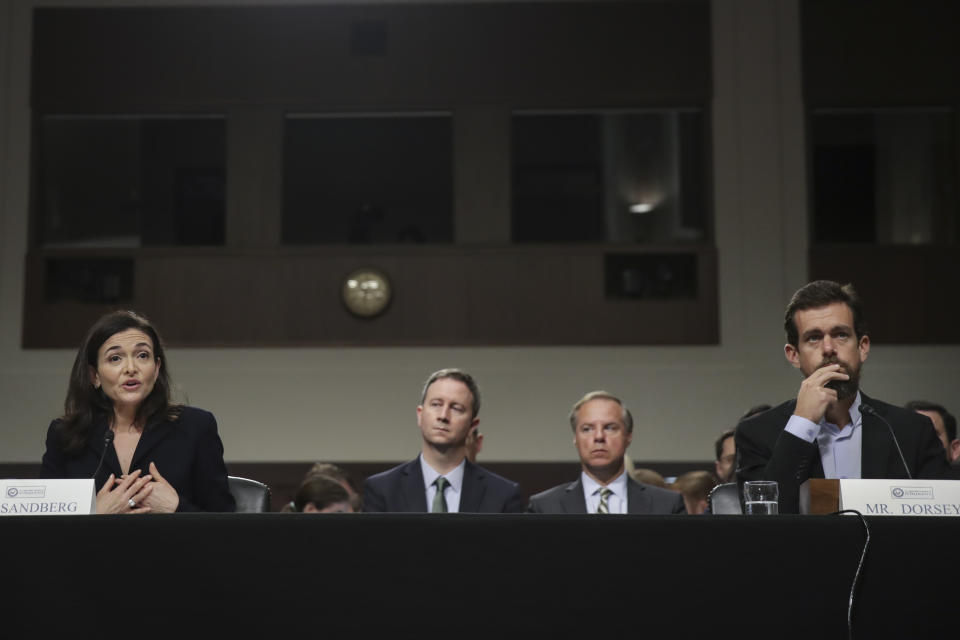
[[[27,258],[25,347],[75,348],[118,307],[146,313],[174,346],[716,344],[712,247],[616,249],[696,257],[696,297],[611,299],[607,247],[38,250]],[[133,298],[49,300],[47,260],[133,261]],[[372,319],[341,302],[344,278],[372,266],[393,286]]]

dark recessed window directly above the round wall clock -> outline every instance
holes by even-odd
[[[449,114],[287,117],[283,242],[453,242],[452,136]]]

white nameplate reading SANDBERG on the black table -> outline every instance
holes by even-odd
[[[92,478],[0,480],[0,516],[82,516],[96,512]]]

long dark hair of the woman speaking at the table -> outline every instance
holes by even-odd
[[[114,334],[136,329],[150,336],[153,342],[154,361],[160,363],[157,380],[150,395],[137,407],[136,424],[144,427],[155,418],[165,416],[175,419],[179,406],[170,403],[170,367],[163,353],[160,335],[150,321],[135,311],[114,311],[97,320],[77,351],[64,402],[63,422],[60,424],[60,446],[64,453],[76,453],[87,443],[93,423],[106,416],[113,420],[113,402],[95,387],[90,372],[97,369],[100,347]]]

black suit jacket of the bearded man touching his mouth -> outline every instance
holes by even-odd
[[[868,398],[897,436],[903,456],[914,478],[948,478],[949,467],[943,445],[933,423],[924,415]],[[737,481],[776,480],[780,490],[780,513],[800,509],[800,485],[808,478],[823,477],[823,463],[816,441],[809,443],[784,431],[797,401],[790,400],[748,418],[737,425]],[[890,437],[890,430],[877,416],[863,414],[863,442],[860,475],[863,478],[906,478],[907,473]]]

